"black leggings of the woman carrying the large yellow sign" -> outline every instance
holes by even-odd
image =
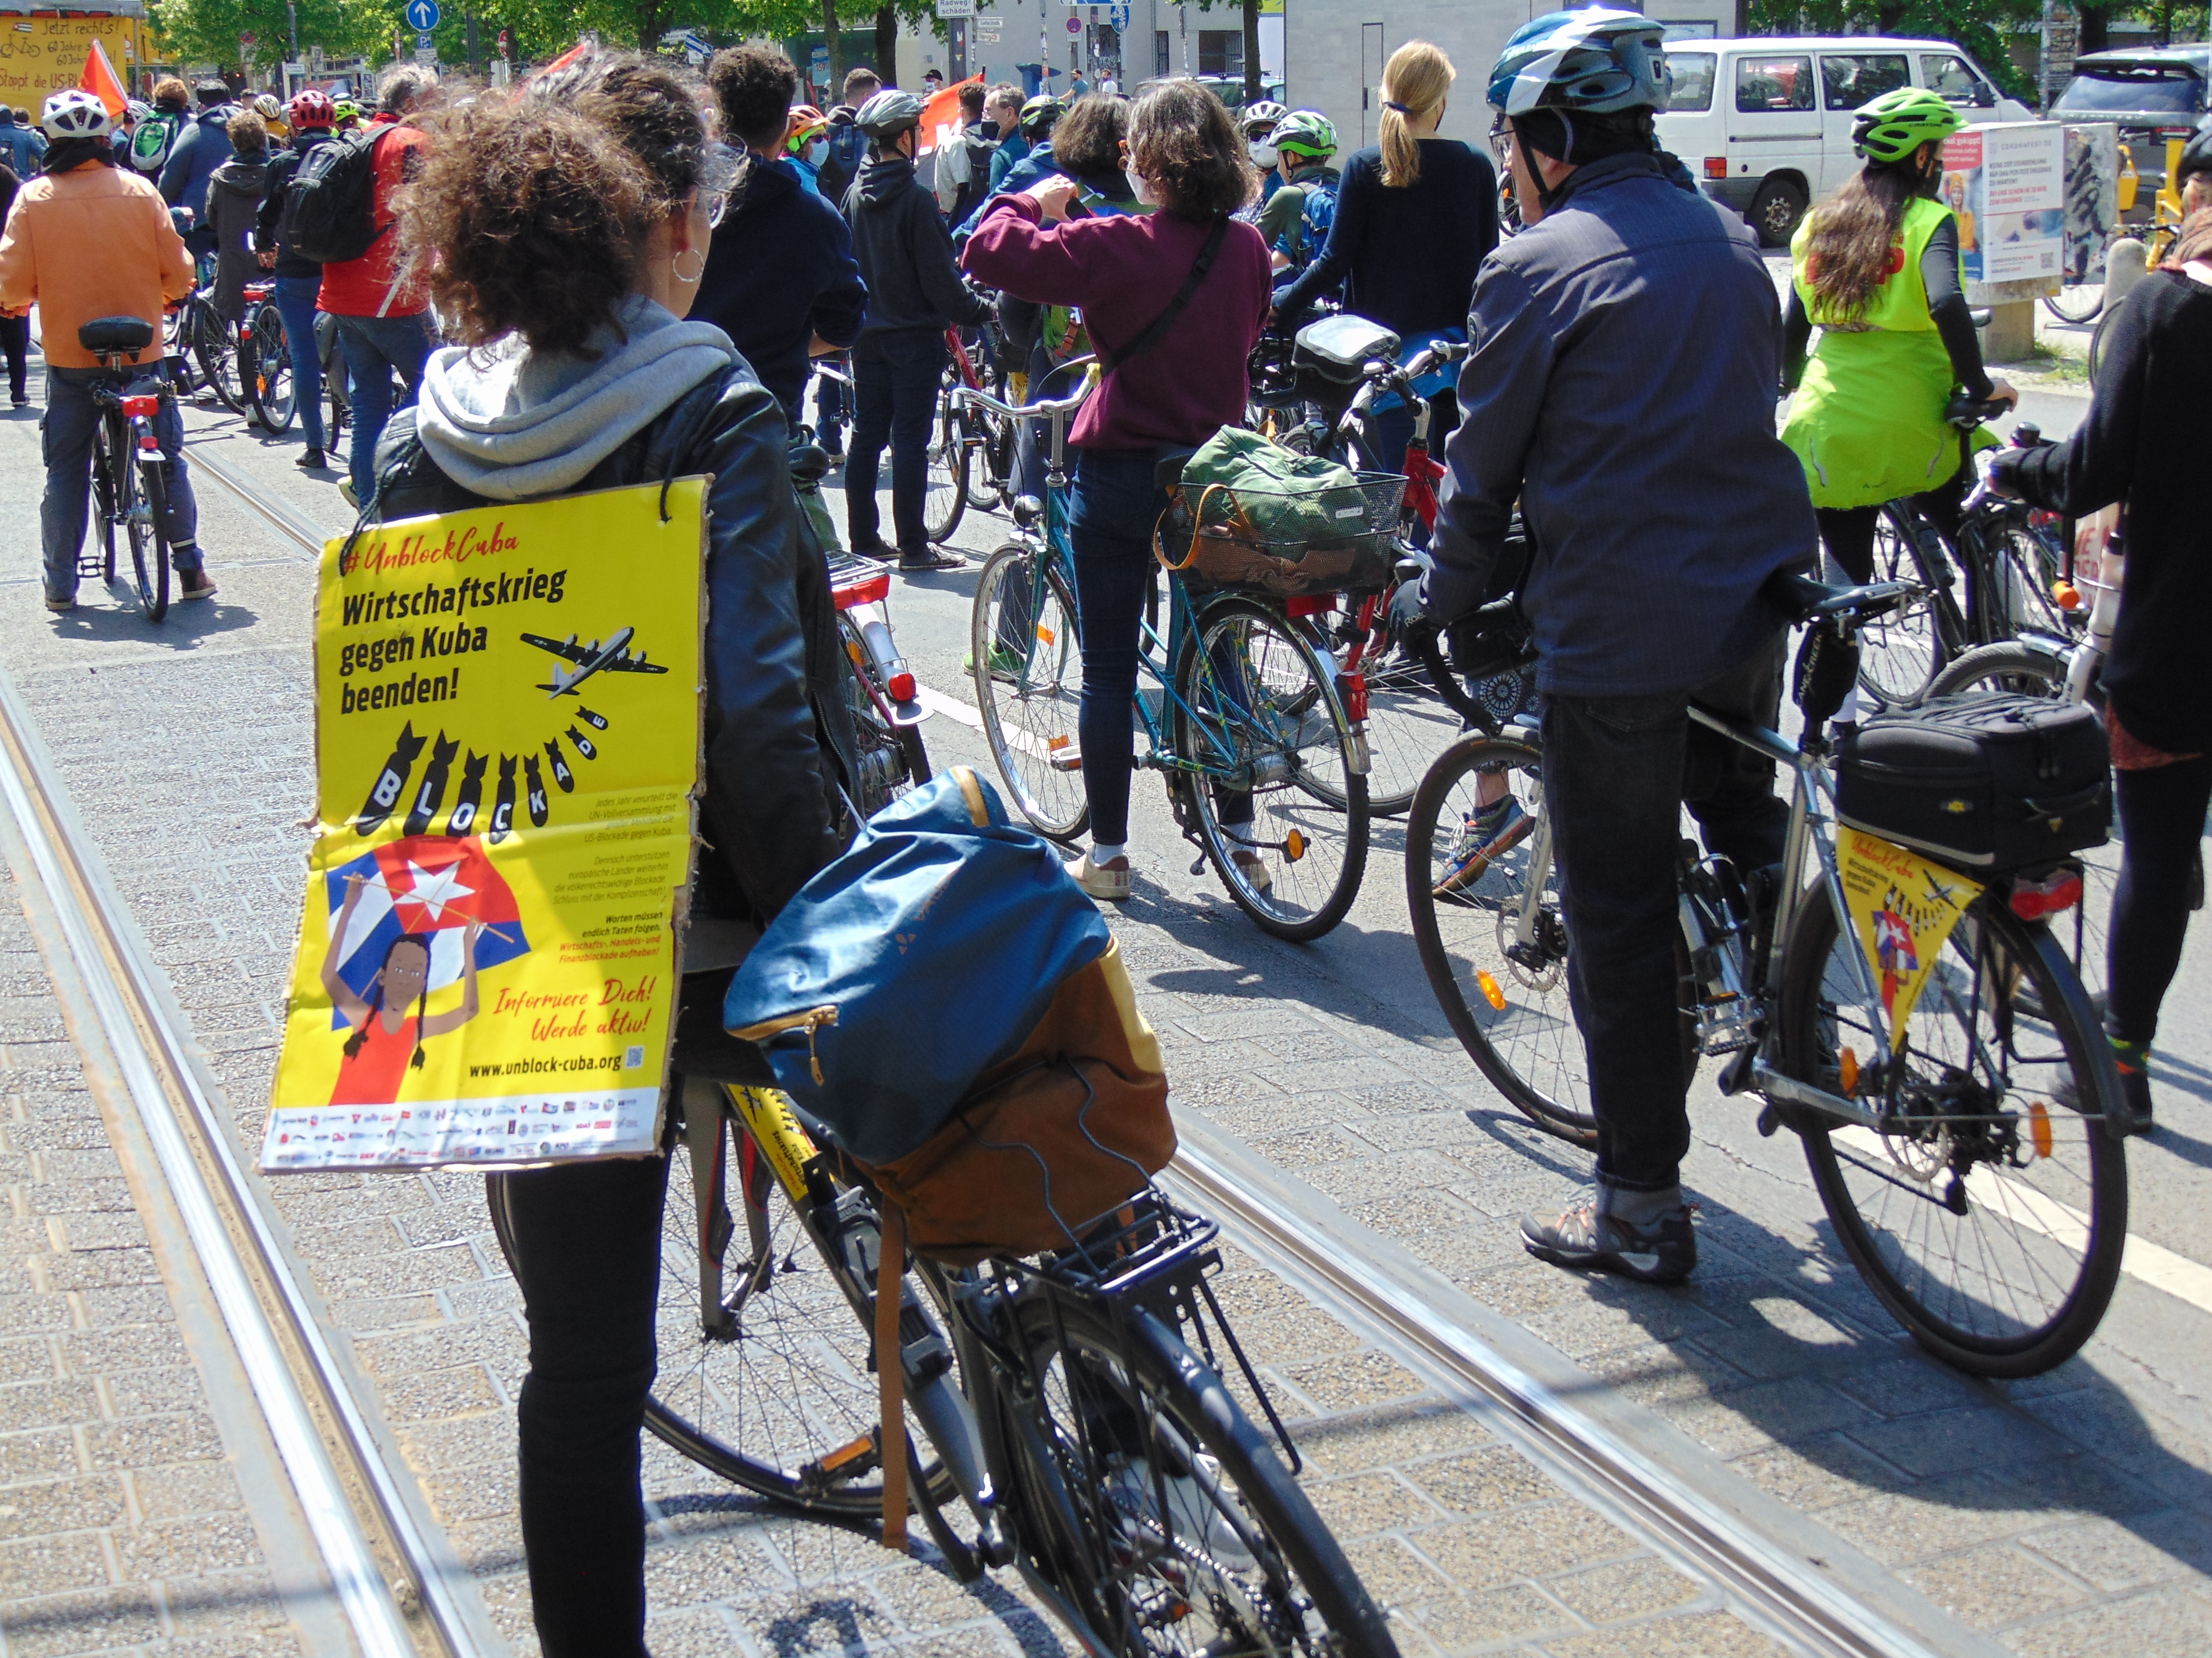
[[[639,1433],[655,1375],[668,1158],[495,1174],[513,1222],[522,1552],[546,1658],[646,1658]]]

